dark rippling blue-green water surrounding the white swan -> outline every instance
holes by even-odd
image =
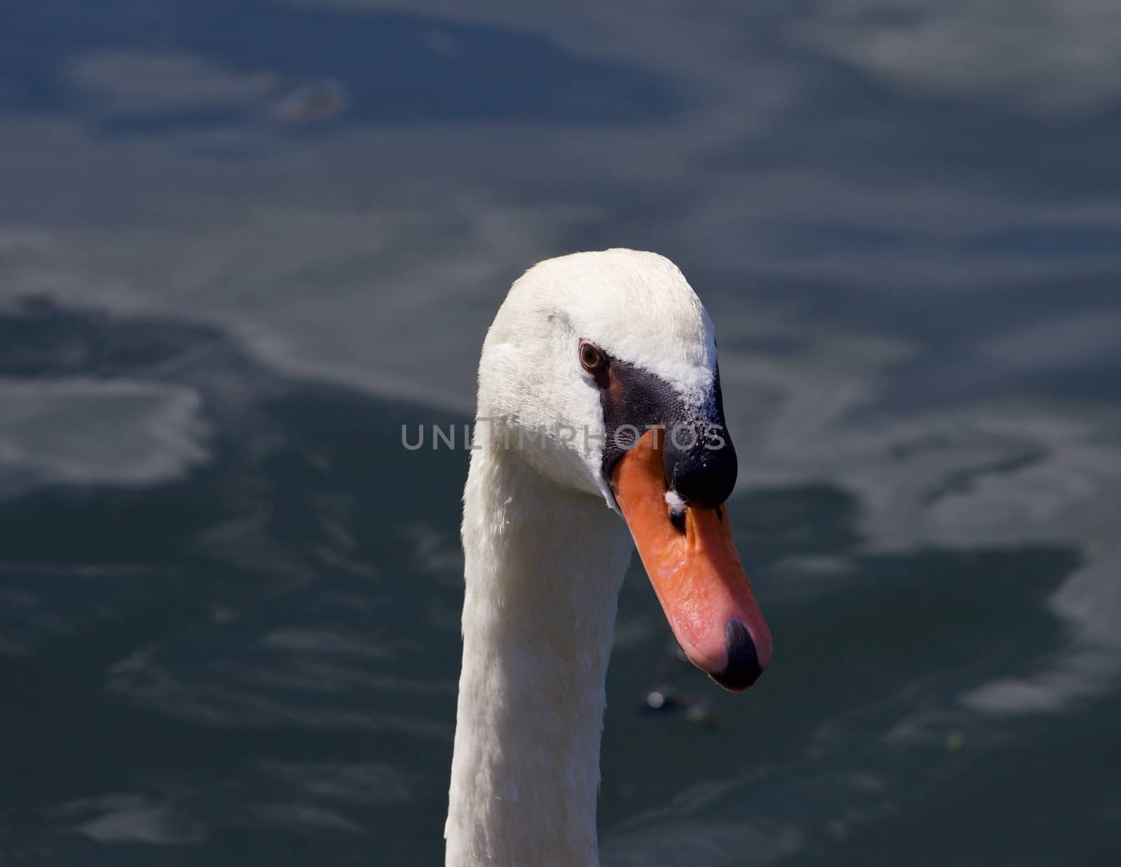
[[[604,864],[1121,863],[1119,57],[1109,0],[0,0],[0,864],[441,863],[466,453],[401,425],[606,246],[716,324],[776,655],[722,693],[632,568]]]

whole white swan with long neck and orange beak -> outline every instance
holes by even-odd
[[[771,655],[724,506],[736,458],[713,325],[656,253],[549,259],[510,288],[478,386],[445,864],[594,866],[632,550],[716,682],[745,689]]]

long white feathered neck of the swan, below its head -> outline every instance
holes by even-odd
[[[472,453],[446,864],[595,865],[626,525],[517,450]]]

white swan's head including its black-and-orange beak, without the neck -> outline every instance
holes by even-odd
[[[573,253],[529,269],[483,344],[476,436],[600,496],[634,539],[675,636],[729,689],[758,678],[770,633],[732,542],[736,456],[712,320],[668,259]]]

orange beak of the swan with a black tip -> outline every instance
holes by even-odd
[[[771,637],[751,594],[724,505],[670,520],[660,440],[648,430],[615,465],[611,487],[642,566],[689,661],[725,689],[756,682]]]

